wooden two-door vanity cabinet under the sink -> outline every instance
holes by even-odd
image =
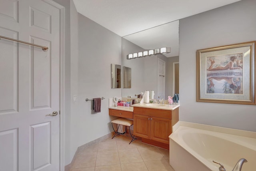
[[[169,135],[172,126],[178,121],[179,109],[134,107],[133,113],[134,135],[142,137],[142,142],[168,148]]]

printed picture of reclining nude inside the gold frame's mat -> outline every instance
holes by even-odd
[[[242,94],[243,54],[206,58],[207,93]]]

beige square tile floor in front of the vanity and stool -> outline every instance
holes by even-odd
[[[76,156],[70,171],[174,171],[169,151],[117,136],[87,147]]]

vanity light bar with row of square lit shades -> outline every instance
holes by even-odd
[[[154,55],[159,55],[159,54],[168,54],[170,52],[171,52],[170,47],[158,48],[158,49],[155,49],[155,50],[148,50],[148,51],[138,52],[138,53],[134,53],[134,54],[128,54],[126,56],[126,58],[128,60],[130,60],[130,59],[141,58],[141,57],[146,57],[146,56],[154,56]]]

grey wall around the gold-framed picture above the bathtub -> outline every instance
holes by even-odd
[[[196,50],[256,40],[255,9],[242,0],[180,20],[181,121],[256,131],[255,105],[196,102]]]

